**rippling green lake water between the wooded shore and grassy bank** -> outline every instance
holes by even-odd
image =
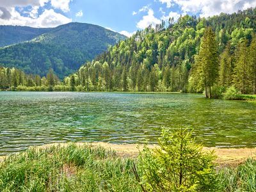
[[[256,147],[256,102],[179,93],[0,92],[0,154],[68,141],[156,143],[194,129],[207,147]]]

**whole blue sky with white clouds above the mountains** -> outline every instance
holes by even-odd
[[[209,17],[255,6],[256,0],[0,0],[0,24],[53,28],[85,22],[131,36],[170,17]]]

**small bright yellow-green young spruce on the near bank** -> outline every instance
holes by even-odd
[[[203,152],[192,132],[163,129],[159,148],[140,152],[141,184],[148,191],[215,191],[213,152]]]

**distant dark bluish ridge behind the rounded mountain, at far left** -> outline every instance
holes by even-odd
[[[26,26],[0,26],[0,47],[29,41],[51,28],[30,28]]]

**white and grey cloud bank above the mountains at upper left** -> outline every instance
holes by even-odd
[[[0,0],[0,24],[52,28],[72,22],[72,19],[65,17],[61,13],[56,13],[53,9],[44,10],[45,3],[50,1],[54,4],[54,1],[57,0]],[[70,1],[72,0],[58,0],[59,8],[63,11],[69,10],[68,4]],[[55,6],[57,8],[57,4]],[[29,10],[24,12],[24,8],[29,8]],[[38,15],[40,8],[42,8],[42,13]],[[20,12],[26,13],[28,16],[22,16]]]

